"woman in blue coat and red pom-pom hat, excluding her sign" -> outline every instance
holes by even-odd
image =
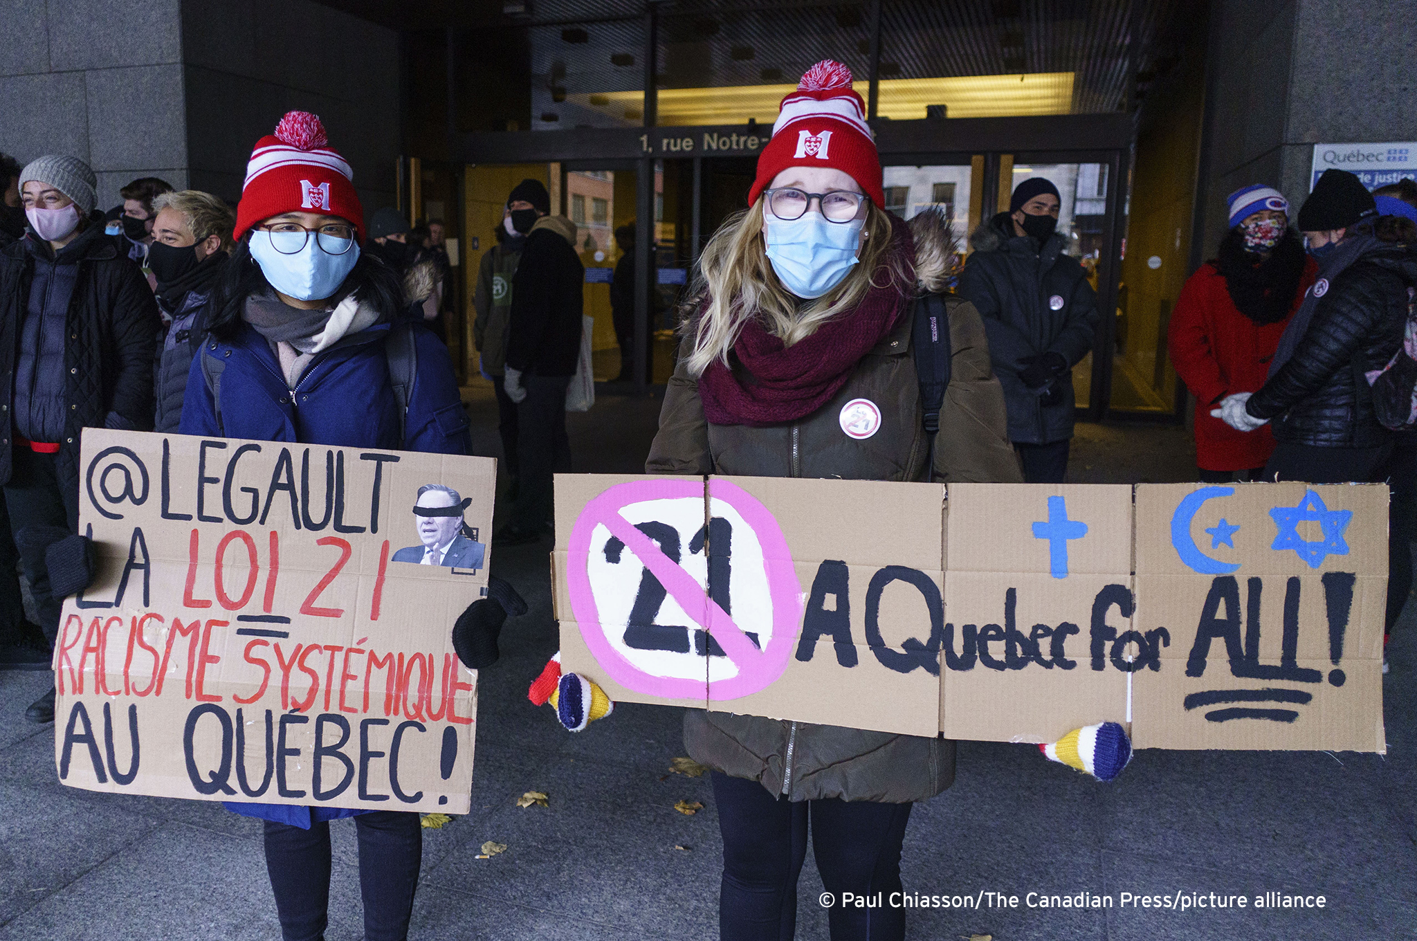
[[[187,377],[183,434],[470,449],[448,347],[422,326],[421,313],[405,313],[421,298],[404,298],[394,271],[360,254],[364,210],[350,180],[349,163],[307,112],[288,113],[273,136],[256,143],[237,207],[237,248]],[[407,351],[394,351],[395,332],[412,347],[411,364]],[[391,376],[412,364],[411,388],[400,401]],[[230,792],[245,801],[285,788],[269,775],[264,784],[232,777],[228,788],[235,784],[239,792]],[[359,830],[364,937],[401,941],[422,859],[418,813],[332,806],[337,804],[227,808],[265,821],[266,869],[285,941],[324,934],[329,821],[344,816]]]

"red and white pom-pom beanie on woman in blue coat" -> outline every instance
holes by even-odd
[[[247,162],[247,181],[237,205],[235,238],[282,213],[324,213],[354,224],[364,241],[364,207],[354,193],[354,171],[329,146],[324,125],[307,111],[286,112],[275,135],[256,142]]]

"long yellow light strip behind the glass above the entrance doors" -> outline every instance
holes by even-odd
[[[727,85],[723,88],[662,88],[657,96],[659,123],[740,125],[757,118],[772,125],[778,102],[796,85]],[[859,82],[866,95],[866,84]],[[567,95],[567,99],[616,120],[639,115],[643,92],[598,92]],[[880,84],[877,112],[891,120],[925,116],[928,105],[945,105],[949,118],[1013,118],[1067,115],[1073,111],[1073,72],[1024,75],[959,75],[951,78],[890,78]]]

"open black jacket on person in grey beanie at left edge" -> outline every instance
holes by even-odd
[[[79,435],[88,428],[147,431],[153,427],[153,357],[157,300],[142,269],[120,258],[102,227],[65,247],[78,255],[78,275],[65,317],[64,402],[60,482],[78,492]],[[33,235],[0,251],[0,483],[10,480],[14,446],[14,376],[20,353],[34,254],[48,244]]]

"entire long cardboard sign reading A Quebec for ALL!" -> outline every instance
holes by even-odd
[[[1386,488],[1217,490],[558,476],[563,669],[914,736],[1382,751]]]

